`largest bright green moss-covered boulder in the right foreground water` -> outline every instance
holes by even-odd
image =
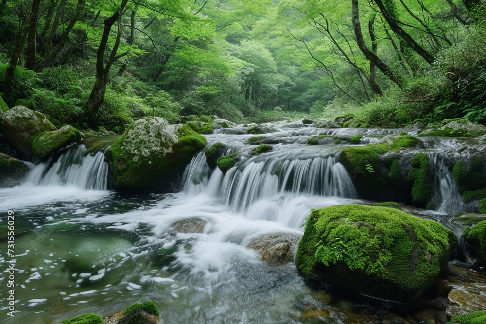
[[[395,208],[338,205],[312,210],[295,264],[315,279],[409,302],[434,283],[457,244],[433,220]]]

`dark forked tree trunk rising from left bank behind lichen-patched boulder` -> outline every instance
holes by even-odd
[[[104,65],[104,51],[106,49],[106,46],[108,45],[111,28],[116,22],[119,22],[119,19],[121,17],[121,14],[123,13],[123,10],[125,9],[127,2],[128,0],[121,1],[118,10],[115,11],[111,17],[104,20],[103,35],[101,36],[100,47],[98,48],[98,53],[96,56],[96,81],[86,103],[86,116],[92,117],[93,114],[96,114],[98,112],[98,109],[104,101],[104,94],[106,93],[106,83],[108,82],[108,74],[110,72],[111,65],[121,57],[120,55],[117,56],[117,50],[118,46],[120,45],[121,36],[121,31],[119,30],[115,45],[113,45],[113,49],[111,50],[111,54],[108,58],[108,62],[106,63],[106,66]]]

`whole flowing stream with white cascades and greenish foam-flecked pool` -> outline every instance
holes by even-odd
[[[301,235],[311,208],[365,203],[337,160],[343,145],[305,145],[310,137],[360,134],[365,144],[402,131],[280,126],[262,135],[280,144],[260,155],[249,153],[255,147],[247,144],[250,135],[206,136],[209,145],[225,144],[227,154],[243,152],[240,161],[224,175],[211,171],[201,152],[171,184],[174,193],[109,190],[108,144],[93,149],[93,139],[35,166],[20,186],[1,188],[0,212],[16,215],[17,264],[16,316],[2,315],[0,323],[58,324],[89,312],[108,316],[144,300],[156,303],[165,323],[347,324],[386,316],[445,323],[438,300],[380,313],[381,301],[328,291],[324,283],[309,283],[295,265],[269,266],[247,248],[267,233]],[[457,232],[449,216],[460,209],[455,182],[442,155],[434,154],[437,209],[410,212]],[[203,233],[171,230],[174,222],[193,218],[206,221]],[[1,233],[5,227],[0,222]],[[4,252],[0,262],[6,268]],[[1,291],[5,285],[0,277]],[[5,300],[0,295],[0,305]]]

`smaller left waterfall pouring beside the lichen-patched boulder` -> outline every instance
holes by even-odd
[[[107,190],[108,175],[104,152],[88,153],[86,146],[77,145],[35,166],[22,180],[22,185],[73,185],[87,190]]]

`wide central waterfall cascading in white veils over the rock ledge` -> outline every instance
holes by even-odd
[[[243,161],[225,175],[218,168],[211,174],[201,152],[186,169],[184,191],[206,192],[234,210],[247,209],[258,200],[298,195],[357,198],[335,148],[275,148],[257,156],[242,153]]]

